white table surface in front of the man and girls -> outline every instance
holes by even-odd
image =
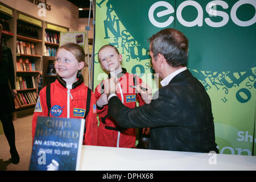
[[[82,146],[80,170],[256,170],[256,156]],[[216,164],[210,164],[216,161]]]

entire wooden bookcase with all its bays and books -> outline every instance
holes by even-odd
[[[32,114],[38,97],[39,76],[43,77],[42,88],[56,79],[54,75],[47,75],[47,67],[49,61],[55,60],[60,31],[68,31],[68,28],[35,18],[2,2],[0,23],[3,25],[2,43],[13,53],[18,93],[14,114],[16,117],[23,113]],[[47,39],[48,33],[52,38]],[[47,56],[46,47],[53,50]]]

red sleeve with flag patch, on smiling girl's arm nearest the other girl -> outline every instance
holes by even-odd
[[[92,92],[92,91],[91,91]],[[98,119],[96,113],[96,100],[93,92],[90,95],[90,110],[85,118],[85,140],[83,144],[97,146],[98,144]]]

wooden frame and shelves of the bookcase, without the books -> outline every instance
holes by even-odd
[[[46,30],[60,32],[60,31],[68,31],[69,29],[67,27],[58,26],[57,24],[48,23],[44,20],[35,18],[31,15],[15,10],[12,7],[7,6],[2,2],[0,2],[0,6],[1,6],[0,19],[5,19],[9,23],[9,27],[10,27],[10,31],[7,31],[7,30],[2,31],[2,38],[3,38],[3,43],[5,43],[6,46],[10,47],[13,53],[15,77],[30,77],[30,76],[32,77],[33,76],[35,81],[34,82],[35,88],[16,89],[17,93],[26,94],[26,93],[37,92],[39,75],[42,75],[42,77],[44,78],[43,79],[44,83],[46,82],[46,80],[51,81],[56,79],[56,76],[45,75],[46,72],[43,71],[43,68],[48,67],[48,63],[44,63],[43,61],[43,57],[44,59],[46,59],[47,57],[47,56],[44,56],[45,46],[50,46],[55,48],[59,47],[59,44],[57,43],[46,42],[45,40]],[[38,33],[38,38],[35,39],[35,36],[32,36],[32,35],[31,37],[29,37],[30,35],[28,36],[18,35],[18,23],[20,22],[24,22],[24,24],[31,26],[33,28],[35,27],[35,30]],[[16,45],[17,40],[22,42],[33,43],[35,46],[35,54],[30,55],[25,53],[17,53],[17,45]],[[32,63],[34,63],[35,65],[35,71],[18,70],[16,63],[17,63],[17,60],[20,60],[20,59],[31,60]],[[28,96],[28,94],[26,95]],[[33,101],[35,101],[35,98],[33,98]],[[16,111],[20,113],[24,110],[24,113],[26,113],[27,112],[26,109],[28,109],[31,112],[32,107],[34,106],[35,106],[35,102],[26,104],[26,105],[19,105],[19,107],[16,107]]]

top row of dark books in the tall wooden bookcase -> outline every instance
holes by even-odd
[[[39,39],[38,28],[22,21],[17,22],[17,34],[27,36],[28,38]]]

